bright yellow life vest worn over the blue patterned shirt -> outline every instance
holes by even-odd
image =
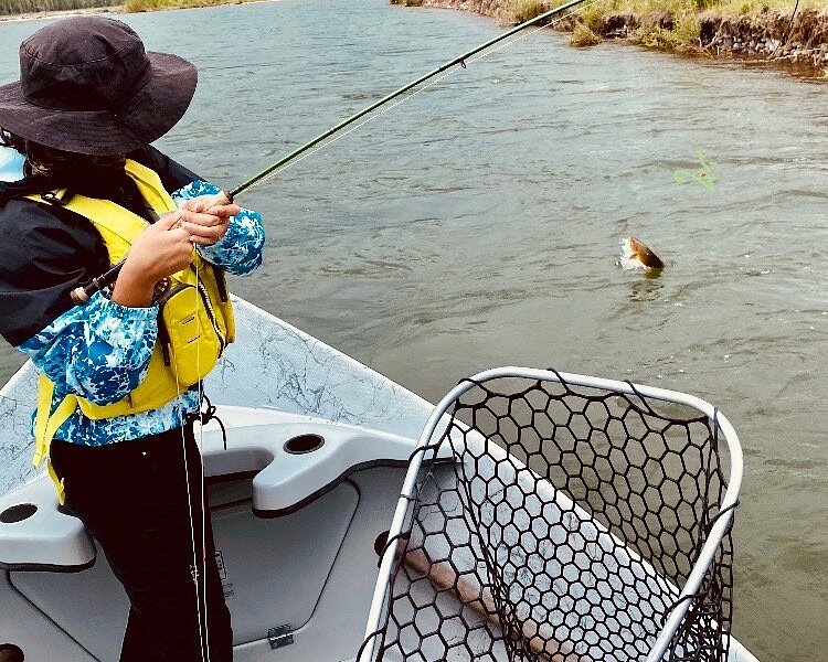
[[[156,213],[177,209],[155,171],[131,160],[127,160],[126,171]],[[29,197],[51,205],[62,194],[65,192],[53,193],[46,199],[41,195]],[[137,214],[108,200],[72,195],[61,205],[92,222],[106,244],[112,264],[126,256],[132,242],[148,225]],[[157,409],[204,378],[224,348],[233,342],[233,309],[221,269],[193,252],[190,268],[173,274],[169,280],[169,288],[158,300],[159,333],[147,375],[126,397],[109,405],[96,405],[70,394],[52,410],[54,384],[40,374],[32,458],[35,466],[39,467],[49,455],[49,445],[57,429],[77,409],[96,420]],[[51,466],[50,473],[55,479]],[[55,482],[63,502],[62,487]]]

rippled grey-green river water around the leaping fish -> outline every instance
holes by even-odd
[[[159,145],[227,188],[502,30],[384,0],[124,19],[199,66]],[[0,82],[42,24],[0,24]],[[735,634],[763,662],[825,661],[827,89],[532,34],[245,194],[268,253],[232,286],[432,401],[524,364],[718,405],[746,461]],[[698,150],[713,190],[673,180]],[[660,278],[616,266],[629,234]],[[21,363],[0,362],[3,380]]]

